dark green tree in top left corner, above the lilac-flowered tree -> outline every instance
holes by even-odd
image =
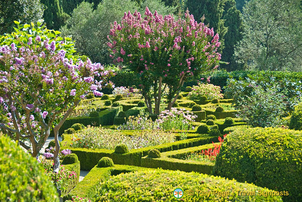
[[[42,16],[43,5],[39,0],[0,1],[0,35],[14,31],[14,21],[35,23]]]

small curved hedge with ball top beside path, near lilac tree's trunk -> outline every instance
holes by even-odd
[[[72,161],[65,160],[66,158],[71,159],[70,157],[72,157],[74,160]],[[77,177],[73,181],[71,181],[67,187],[65,187],[64,192],[62,192],[62,196],[66,195],[71,189],[73,189],[74,186],[76,186],[79,183],[79,179],[80,179],[80,161],[78,160],[78,156],[71,153],[67,155],[65,159],[63,159],[62,165],[64,165],[66,170],[74,171]]]

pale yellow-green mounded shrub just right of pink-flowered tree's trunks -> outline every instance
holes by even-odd
[[[188,98],[191,100],[200,100],[201,96],[205,95],[207,99],[221,99],[223,95],[220,92],[221,89],[219,86],[199,83],[198,86],[193,86],[192,91],[188,94]]]

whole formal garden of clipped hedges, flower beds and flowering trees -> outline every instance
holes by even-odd
[[[107,1],[60,31],[16,20],[0,35],[0,200],[302,201],[300,58],[226,71],[222,29],[146,4],[98,50],[68,34]],[[281,62],[297,69],[263,66]]]

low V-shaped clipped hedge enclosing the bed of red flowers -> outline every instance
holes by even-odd
[[[216,137],[218,139],[218,137]],[[213,148],[213,144],[202,145],[198,147],[190,147],[175,151],[160,153],[160,158],[142,158],[142,167],[146,168],[162,168],[165,170],[180,170],[185,172],[199,172],[211,174],[214,163],[207,163],[194,160],[182,160],[181,158],[192,152],[201,152],[201,150]]]

